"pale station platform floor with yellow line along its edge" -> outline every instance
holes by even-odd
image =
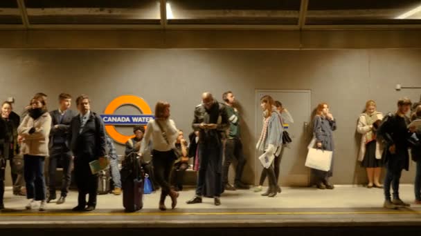
[[[145,195],[144,207],[136,213],[125,213],[122,196],[98,195],[96,210],[89,213],[75,213],[71,208],[76,206],[77,192],[71,191],[65,204],[57,205],[52,201],[47,205],[46,211],[39,212],[36,209],[24,210],[26,198],[12,196],[11,188],[7,188],[4,199],[6,209],[0,213],[0,229],[10,229],[12,232],[12,230],[37,228],[44,231],[64,228],[79,230],[149,228],[161,230],[156,231],[158,232],[156,235],[161,235],[159,232],[162,232],[163,228],[172,229],[173,233],[182,228],[206,228],[205,233],[224,228],[224,232],[233,230],[231,235],[259,235],[262,231],[258,228],[265,230],[271,228],[272,233],[277,232],[276,229],[283,228],[283,233],[287,235],[286,228],[289,230],[312,228],[314,233],[319,232],[316,229],[324,227],[330,230],[350,227],[352,230],[358,228],[369,230],[373,227],[382,229],[386,227],[388,230],[383,235],[393,233],[393,230],[400,228],[405,228],[406,231],[413,229],[414,232],[418,232],[415,235],[421,235],[421,205],[413,204],[412,185],[400,187],[402,200],[410,203],[411,207],[398,210],[382,207],[384,201],[382,189],[368,189],[362,186],[336,186],[334,190],[283,188],[283,192],[274,198],[262,197],[260,193],[253,193],[252,189],[226,191],[221,197],[221,206],[215,206],[213,199],[206,197],[202,204],[186,204],[194,194],[192,188],[183,190],[180,192],[177,208],[166,211],[158,210],[159,192]],[[169,197],[166,206],[170,208]],[[236,230],[238,228],[249,230],[241,233]],[[320,233],[329,235],[322,229]],[[149,234],[154,235],[152,231]]]

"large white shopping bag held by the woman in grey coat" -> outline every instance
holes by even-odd
[[[316,169],[329,171],[332,163],[332,151],[309,148],[305,166]]]

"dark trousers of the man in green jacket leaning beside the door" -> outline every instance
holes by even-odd
[[[222,167],[222,184],[228,183],[229,166],[234,159],[237,159],[237,168],[235,169],[235,183],[241,181],[246,159],[242,151],[242,142],[240,139],[226,139],[225,142],[225,160],[224,166]]]

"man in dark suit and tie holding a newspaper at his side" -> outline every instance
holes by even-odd
[[[87,95],[80,95],[76,99],[80,114],[73,117],[69,127],[68,138],[75,156],[75,181],[79,191],[78,206],[73,208],[75,211],[95,210],[98,176],[91,173],[89,162],[106,161],[104,124],[100,116],[91,111],[90,103]],[[89,194],[88,202],[87,194]]]

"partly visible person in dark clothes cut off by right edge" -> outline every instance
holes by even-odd
[[[411,116],[411,121],[421,120],[421,104],[418,105]],[[411,148],[411,157],[413,161],[417,164],[417,170],[415,174],[415,204],[421,204],[421,128],[418,127],[415,130],[415,135],[418,138],[418,144]]]

